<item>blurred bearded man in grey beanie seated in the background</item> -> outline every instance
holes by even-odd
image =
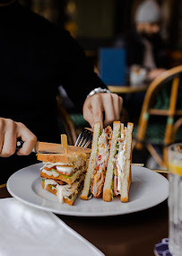
[[[154,0],[143,1],[135,11],[134,30],[126,40],[127,65],[143,66],[150,80],[160,75],[167,65],[160,21],[160,5]]]

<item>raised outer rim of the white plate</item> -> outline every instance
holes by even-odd
[[[45,210],[45,211],[48,211],[48,212],[53,212],[55,214],[58,214],[58,215],[63,215],[63,216],[119,216],[119,215],[126,215],[126,214],[131,214],[131,213],[136,213],[136,212],[140,212],[140,211],[143,211],[143,210],[146,210],[148,208],[151,208],[151,207],[155,207],[157,205],[159,205],[161,202],[163,202],[164,200],[168,199],[169,197],[169,193],[168,195],[163,195],[163,198],[161,198],[157,203],[156,202],[153,202],[150,206],[144,206],[144,207],[140,207],[139,209],[136,209],[136,210],[128,210],[126,212],[121,212],[120,210],[116,211],[116,212],[112,212],[112,213],[108,213],[108,212],[94,212],[94,213],[90,213],[90,212],[83,212],[83,211],[66,211],[66,209],[63,209],[63,210],[58,210],[56,208],[52,208],[52,207],[44,207],[44,206],[41,206],[39,204],[35,204],[35,203],[32,203],[26,199],[22,199],[21,197],[17,196],[11,186],[10,186],[10,181],[13,179],[13,176],[17,175],[18,172],[22,172],[22,170],[24,169],[28,169],[29,167],[33,167],[33,166],[41,166],[42,163],[35,163],[35,164],[31,164],[27,167],[24,167],[20,170],[18,170],[17,172],[14,172],[10,178],[8,179],[7,181],[7,184],[6,184],[6,188],[8,190],[8,192],[13,196],[13,198],[15,199],[18,199],[20,201],[22,201],[22,203],[25,203],[31,207],[36,207],[36,208],[39,208],[39,209],[42,209],[42,210]],[[164,176],[160,175],[160,173],[157,173],[157,172],[153,172],[152,170],[146,168],[146,167],[142,167],[142,166],[132,166],[132,169],[135,169],[135,168],[140,168],[142,170],[147,170],[147,172],[151,172],[152,175],[155,175],[156,177],[160,176],[160,179],[163,179],[164,182],[166,182],[167,186],[169,187],[169,181],[168,179],[166,179]],[[37,173],[37,172],[36,172]],[[39,178],[39,176],[37,177]],[[37,179],[36,178],[36,179]],[[35,181],[35,180],[34,180]],[[32,181],[32,183],[34,182]],[[32,184],[31,183],[31,184]],[[31,189],[32,190],[32,189]],[[33,191],[33,190],[32,190]],[[38,197],[38,195],[36,195]],[[46,199],[48,200],[48,199]],[[88,200],[88,201],[91,201],[91,200]],[[108,202],[107,202],[108,203]]]

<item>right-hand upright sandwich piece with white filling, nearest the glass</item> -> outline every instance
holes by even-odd
[[[120,195],[121,202],[128,201],[131,184],[132,134],[134,124],[128,122],[125,128],[119,121],[113,124],[108,168],[103,188],[104,201]]]

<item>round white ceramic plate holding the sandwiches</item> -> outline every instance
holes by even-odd
[[[55,195],[41,188],[39,168],[42,163],[30,165],[14,172],[7,181],[7,190],[16,199],[56,214],[68,216],[116,216],[154,207],[169,196],[169,181],[157,172],[132,166],[132,184],[129,202],[121,203],[119,197],[111,202],[102,199],[80,199],[74,206],[60,204]]]

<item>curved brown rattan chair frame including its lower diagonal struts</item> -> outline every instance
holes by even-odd
[[[147,150],[152,154],[153,158],[157,163],[159,163],[161,168],[166,168],[168,165],[168,155],[167,155],[167,147],[169,144],[174,142],[174,134],[177,131],[174,131],[174,117],[175,116],[182,116],[182,110],[177,110],[177,100],[178,100],[178,85],[179,85],[179,75],[182,73],[182,66],[176,66],[168,71],[165,71],[161,75],[159,75],[156,79],[152,81],[152,84],[150,84],[145,97],[143,101],[143,108],[141,111],[139,124],[138,124],[138,130],[136,134],[136,140],[134,141],[134,146],[136,149],[142,149],[143,145],[146,146]],[[169,109],[168,110],[156,110],[152,109],[152,100],[155,97],[155,94],[160,86],[165,86],[166,82],[169,80],[172,80],[172,86],[171,86],[171,92],[170,92],[170,100],[169,100]],[[152,144],[145,143],[145,133],[148,125],[148,119],[150,115],[160,115],[160,116],[166,116],[167,119],[167,125],[165,129],[165,135],[164,135],[164,147],[163,147],[163,159],[160,157],[160,155],[156,152]],[[182,122],[180,119],[179,122]]]

